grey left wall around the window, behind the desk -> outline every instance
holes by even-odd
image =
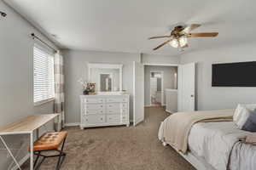
[[[7,16],[0,18],[0,128],[32,114],[53,111],[53,102],[33,104],[33,40],[35,32],[48,41],[38,30],[0,1],[0,8]],[[48,41],[49,42],[49,41]],[[50,43],[50,42],[49,42]],[[53,44],[51,44],[53,45]],[[49,126],[52,127],[52,126]],[[26,135],[4,136],[18,160],[26,156]],[[20,147],[22,147],[20,149]],[[0,141],[0,148],[3,143]],[[8,169],[11,158],[6,150],[0,150],[0,169]]]

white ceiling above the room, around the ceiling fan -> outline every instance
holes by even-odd
[[[177,48],[152,48],[177,23],[198,23],[215,38],[189,39],[191,50],[254,41],[255,0],[6,0],[61,48],[176,55]]]

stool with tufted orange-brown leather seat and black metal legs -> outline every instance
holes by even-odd
[[[37,156],[36,160],[34,161],[34,168],[38,169],[38,167],[40,167],[44,159],[47,157],[59,157],[57,166],[55,169],[60,169],[61,164],[64,161],[66,156],[66,153],[63,152],[66,138],[67,138],[66,131],[55,132],[55,133],[44,133],[36,142],[34,142],[33,152],[34,152],[34,155]],[[61,150],[59,150],[58,148],[60,147],[61,143],[62,143]],[[59,154],[46,156],[41,153],[49,150],[58,151]],[[43,159],[42,161],[38,162],[38,158],[40,156],[42,156]]]

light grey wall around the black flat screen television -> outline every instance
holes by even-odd
[[[256,61],[256,42],[233,44],[181,56],[181,63],[196,62],[196,91],[198,110],[235,108],[239,103],[255,103],[256,88],[212,88],[212,64]],[[245,75],[255,77],[255,73]]]

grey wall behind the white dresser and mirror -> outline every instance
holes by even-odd
[[[140,54],[64,50],[65,66],[65,90],[66,90],[66,115],[67,124],[80,122],[79,95],[82,94],[82,86],[79,78],[88,79],[88,63],[123,64],[123,89],[130,96],[130,108],[132,108],[133,87],[133,61],[140,62]],[[132,109],[130,109],[132,118]]]

